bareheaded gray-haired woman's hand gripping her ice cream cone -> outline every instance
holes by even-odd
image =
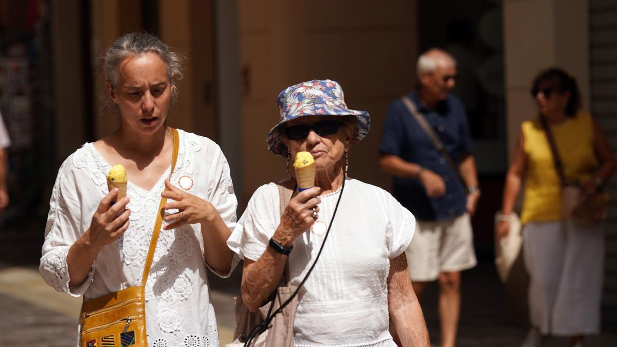
[[[128,228],[131,210],[125,208],[129,199],[122,198],[114,206],[109,206],[117,195],[118,189],[114,188],[101,200],[92,216],[90,227],[84,234],[88,238],[88,244],[95,249],[114,242]]]

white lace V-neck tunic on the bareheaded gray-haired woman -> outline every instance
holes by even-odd
[[[225,156],[213,141],[178,130],[180,148],[171,182],[188,193],[210,201],[233,228],[236,196]],[[139,285],[154,228],[160,193],[170,167],[150,191],[129,182],[130,227],[117,242],[105,246],[86,280],[68,287],[68,248],[89,227],[101,199],[108,193],[111,169],[93,144],[86,143],[62,164],[49,203],[40,272],[49,285],[72,296],[93,299]],[[181,177],[190,177],[191,182]],[[165,222],[164,222],[165,223]],[[207,240],[206,240],[207,242]],[[160,231],[146,285],[146,330],[154,347],[218,346],[217,322],[203,256],[201,225]],[[231,270],[238,263],[234,259]],[[222,274],[226,277],[229,274]]]

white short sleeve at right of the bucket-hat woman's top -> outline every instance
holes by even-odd
[[[388,220],[386,230],[386,247],[389,259],[394,259],[405,251],[412,241],[416,228],[416,219],[412,212],[403,207],[394,197],[383,191],[384,206]]]

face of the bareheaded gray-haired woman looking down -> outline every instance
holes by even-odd
[[[122,125],[155,133],[164,126],[172,99],[167,66],[157,54],[147,52],[126,58],[119,72],[115,89],[107,83],[107,90],[120,107]]]

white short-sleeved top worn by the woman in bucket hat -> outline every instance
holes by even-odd
[[[339,191],[321,196],[319,220],[329,224]],[[280,224],[274,183],[253,194],[227,241],[244,259],[257,261]],[[323,253],[299,292],[294,345],[396,346],[388,332],[390,259],[412,240],[415,218],[391,194],[347,179]],[[298,285],[323,241],[307,230],[289,257],[291,284]]]

